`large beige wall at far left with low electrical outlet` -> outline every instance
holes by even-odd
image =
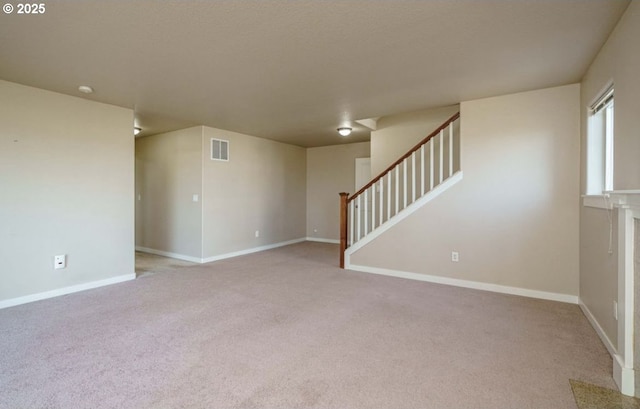
[[[0,81],[0,301],[134,274],[132,127],[131,110]]]

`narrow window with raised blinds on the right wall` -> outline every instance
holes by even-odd
[[[587,195],[613,190],[613,87],[589,108]]]

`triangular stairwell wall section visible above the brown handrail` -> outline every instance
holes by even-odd
[[[371,132],[371,173],[378,175],[460,111],[460,105],[382,117]]]

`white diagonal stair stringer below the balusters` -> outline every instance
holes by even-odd
[[[379,227],[373,230],[371,233],[364,236],[362,239],[358,240],[355,244],[347,249],[344,252],[344,268],[349,269],[351,267],[351,255],[356,251],[360,250],[373,240],[375,240],[378,236],[384,234],[387,230],[400,223],[402,220],[409,217],[411,214],[416,212],[425,204],[429,203],[436,197],[440,196],[442,193],[449,190],[452,186],[456,185],[458,182],[462,180],[462,171],[459,170],[444,181],[440,183],[438,186],[434,187],[430,191],[424,194],[424,196],[417,199],[415,202],[411,203],[409,206],[405,207],[398,213],[393,216],[386,222],[382,223]]]

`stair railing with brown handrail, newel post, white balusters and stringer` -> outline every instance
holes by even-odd
[[[340,267],[461,179],[457,113],[355,194],[340,193]]]

